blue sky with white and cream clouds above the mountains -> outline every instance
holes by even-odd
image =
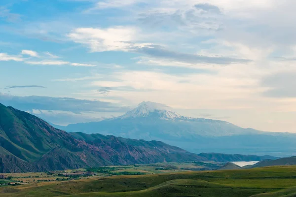
[[[1,0],[0,102],[61,125],[149,100],[296,132],[294,0]]]

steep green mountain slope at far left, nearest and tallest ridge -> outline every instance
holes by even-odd
[[[99,158],[97,147],[76,140],[69,133],[51,127],[36,116],[12,107],[5,107],[2,104],[0,104],[0,128],[2,172],[56,169],[53,161],[57,154],[52,154],[53,150],[67,155],[64,158],[63,168],[110,164],[110,162],[97,159]],[[89,153],[95,157],[83,157]],[[48,155],[51,156],[46,161],[44,158]],[[69,162],[71,158],[75,158],[73,162]],[[28,167],[23,167],[24,165]]]

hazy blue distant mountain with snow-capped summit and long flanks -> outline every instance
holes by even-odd
[[[296,154],[296,133],[243,129],[225,121],[185,117],[153,102],[142,102],[137,108],[116,118],[72,124],[61,129],[160,140],[194,153],[268,154],[280,157]]]

